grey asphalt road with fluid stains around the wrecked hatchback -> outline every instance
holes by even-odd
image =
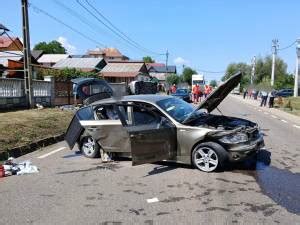
[[[38,174],[0,179],[0,224],[300,224],[300,129],[233,97],[220,110],[261,126],[256,165],[103,164],[61,142],[18,159]]]

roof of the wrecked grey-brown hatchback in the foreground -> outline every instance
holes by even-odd
[[[156,103],[160,100],[172,98],[172,96],[169,95],[127,95],[123,96],[121,98],[112,97],[112,98],[106,98],[101,99],[99,101],[93,102],[92,105],[98,105],[98,104],[107,104],[107,103],[116,103],[120,101],[137,101],[137,102],[150,102],[150,103]]]

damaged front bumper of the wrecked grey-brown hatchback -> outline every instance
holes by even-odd
[[[261,148],[265,146],[263,136],[260,135],[256,140],[250,143],[228,146],[229,161],[240,162],[255,155]]]

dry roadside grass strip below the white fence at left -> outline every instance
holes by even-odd
[[[57,108],[0,113],[0,152],[63,134],[72,116]]]

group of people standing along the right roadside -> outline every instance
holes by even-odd
[[[244,97],[244,99],[246,97],[248,97],[250,99],[253,98],[254,100],[257,100],[257,98],[260,97],[261,98],[260,106],[266,106],[267,102],[268,102],[269,108],[273,108],[274,107],[274,99],[275,99],[275,90],[267,92],[264,90],[257,91],[255,89],[253,89],[253,90],[244,89],[243,97]],[[268,101],[268,98],[269,98],[269,101]]]

